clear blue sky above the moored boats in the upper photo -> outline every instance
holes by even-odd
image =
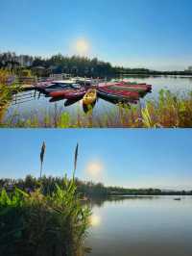
[[[184,69],[192,64],[191,0],[1,0],[0,50],[90,57],[112,64]]]

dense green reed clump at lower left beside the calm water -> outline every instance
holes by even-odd
[[[16,183],[12,183],[12,190],[1,187],[1,255],[84,255],[84,238],[91,213],[81,203],[75,171],[71,179],[65,176],[60,185],[57,181],[52,185],[54,191],[48,186],[46,193],[41,178],[36,180],[33,191]]]

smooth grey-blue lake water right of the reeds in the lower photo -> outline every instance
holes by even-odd
[[[192,196],[127,198],[93,206],[91,256],[191,256]]]

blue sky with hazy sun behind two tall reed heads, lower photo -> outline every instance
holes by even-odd
[[[69,176],[79,142],[77,176],[134,188],[192,189],[191,130],[1,129],[0,177],[39,176],[39,152],[46,142],[43,173]]]

